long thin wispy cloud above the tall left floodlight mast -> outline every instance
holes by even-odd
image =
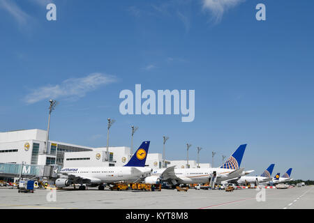
[[[94,91],[100,86],[113,82],[117,82],[114,76],[96,72],[87,77],[70,78],[61,84],[42,86],[39,89],[34,89],[25,97],[25,100],[28,104],[33,104],[40,100],[51,98],[82,98],[87,92]]]

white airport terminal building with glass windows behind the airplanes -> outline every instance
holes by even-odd
[[[48,141],[46,151],[45,130],[17,130],[0,132],[0,177],[10,173],[17,175],[21,170],[22,162],[27,173],[34,169],[47,172],[45,168],[54,165],[59,167],[121,167],[130,160],[130,148],[126,146],[109,147],[109,160],[107,148],[92,148]],[[148,153],[146,166],[152,169],[163,168],[163,158],[160,153]],[[173,165],[176,168],[186,168],[186,160],[165,160],[166,167]],[[195,160],[189,160],[190,168],[197,168]],[[45,168],[44,168],[45,167]],[[200,164],[200,167],[209,168],[210,164]],[[35,169],[37,169],[35,171]],[[24,170],[23,170],[24,171]],[[52,171],[52,169],[50,170]],[[49,175],[49,174],[46,174]],[[52,175],[52,174],[50,174]]]

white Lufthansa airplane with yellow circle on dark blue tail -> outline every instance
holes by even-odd
[[[70,167],[60,171],[60,178],[55,182],[57,187],[67,187],[75,183],[80,184],[79,190],[86,190],[88,185],[98,185],[98,190],[104,190],[103,183],[124,181],[137,182],[149,176],[153,169],[145,167],[150,141],[143,141],[124,167]]]

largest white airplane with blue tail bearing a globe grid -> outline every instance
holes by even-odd
[[[151,176],[144,179],[144,182],[150,184],[167,182],[172,185],[212,183],[214,185],[223,180],[239,178],[250,172],[239,168],[245,149],[246,144],[239,146],[227,162],[218,168],[174,169],[172,166],[167,169],[155,169]]]

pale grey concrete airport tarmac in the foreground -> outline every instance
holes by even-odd
[[[35,190],[18,193],[16,189],[0,189],[0,208],[103,208],[103,209],[211,209],[211,208],[270,208],[293,209],[314,208],[314,186],[289,189],[265,189],[265,201],[257,201],[255,189],[234,190],[194,190],[177,192],[111,191],[97,190],[55,190],[56,201],[50,190]],[[262,200],[263,197],[260,197]]]

